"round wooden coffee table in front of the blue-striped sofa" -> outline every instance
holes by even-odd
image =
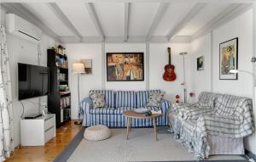
[[[155,119],[157,119],[158,117],[160,117],[162,114],[152,114],[150,116],[146,116],[144,114],[140,114],[140,113],[136,113],[133,110],[128,110],[128,111],[124,111],[123,115],[125,115],[127,117],[127,130],[126,130],[126,137],[127,139],[129,138],[129,132],[131,131],[131,120],[132,119],[152,119],[153,120],[153,126],[154,126],[154,137],[155,140],[158,141],[157,139],[157,132],[156,132],[156,126],[155,126]]]

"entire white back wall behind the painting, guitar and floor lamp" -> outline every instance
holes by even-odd
[[[79,62],[80,59],[92,59],[92,75],[80,75],[80,98],[86,98],[90,89],[112,90],[146,90],[147,78],[149,71],[149,89],[162,89],[166,92],[165,98],[173,100],[174,95],[183,96],[183,87],[180,83],[183,81],[183,60],[178,54],[180,52],[189,52],[189,43],[170,43],[170,44],[150,44],[149,45],[149,62],[147,62],[146,44],[145,43],[107,43],[105,44],[105,53],[102,55],[102,44],[66,44],[67,56],[69,61],[69,87],[72,92],[71,98],[71,115],[72,119],[78,118],[78,90],[77,75],[72,74],[72,64]],[[172,47],[172,64],[177,69],[177,81],[163,81],[164,67],[168,64],[167,47]],[[144,53],[144,81],[107,81],[106,77],[102,78],[102,72],[106,74],[106,64],[102,64],[103,57],[106,53],[111,52],[143,52]],[[149,64],[149,70],[147,70]],[[189,67],[189,63],[186,63]],[[189,71],[188,71],[189,72]],[[189,74],[186,74],[189,76]],[[189,83],[189,77],[187,77]],[[104,82],[102,82],[104,81]]]

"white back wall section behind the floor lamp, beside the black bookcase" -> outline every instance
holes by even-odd
[[[66,44],[68,57],[68,81],[71,91],[71,118],[78,118],[78,75],[72,73],[72,64],[80,59],[92,59],[92,74],[80,75],[80,99],[87,97],[90,89],[102,89],[102,45]]]

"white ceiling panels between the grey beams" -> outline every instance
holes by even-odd
[[[96,19],[102,28],[102,37],[124,37],[125,36],[125,3],[90,3],[95,10]],[[230,7],[232,3],[207,3],[196,12],[193,18],[183,20],[191,14],[195,3],[164,3],[167,8],[160,17],[154,30],[149,33],[149,29],[154,25],[154,18],[159,12],[161,3],[129,3],[129,37],[146,37],[148,34],[154,37],[167,37],[177,26],[181,26],[176,36],[193,36],[200,31],[207,23],[214,20],[220,13]],[[21,3],[30,13],[44,25],[49,27],[57,36],[73,37],[75,32],[65,21],[49,8],[48,3]],[[99,37],[95,20],[91,17],[90,10],[85,3],[56,3],[62,14],[67,17],[79,35],[83,37]],[[233,3],[234,5],[234,3]],[[185,23],[183,25],[180,25]],[[79,37],[79,36],[77,36]]]

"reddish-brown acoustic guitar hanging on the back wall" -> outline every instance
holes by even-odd
[[[163,75],[163,78],[165,81],[175,81],[176,80],[176,74],[174,72],[175,66],[171,64],[171,47],[168,47],[167,51],[169,54],[169,64],[166,64],[165,66],[165,73]]]

